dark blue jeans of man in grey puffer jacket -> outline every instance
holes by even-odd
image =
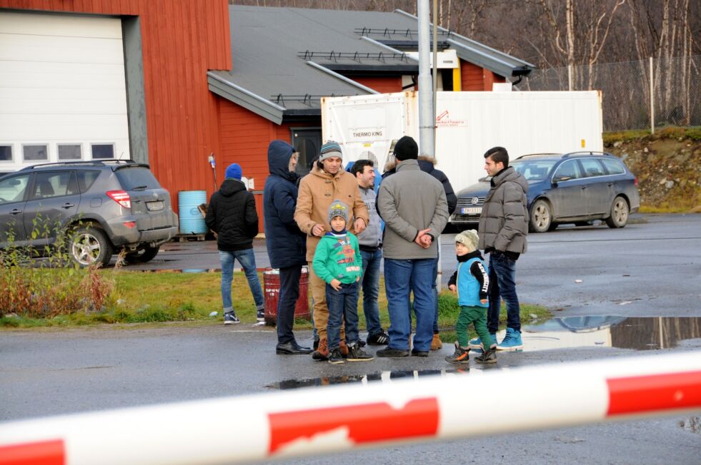
[[[521,308],[516,295],[516,262],[501,252],[489,254],[489,310],[487,329],[494,334],[499,329],[502,301],[507,306],[507,327],[521,330]]]

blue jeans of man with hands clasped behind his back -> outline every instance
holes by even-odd
[[[412,332],[409,294],[414,292],[416,334],[414,349],[427,352],[433,339],[435,318],[434,295],[431,290],[434,259],[384,259],[384,287],[389,310],[390,349],[407,350]]]

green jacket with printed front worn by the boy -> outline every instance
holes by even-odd
[[[317,276],[329,284],[333,280],[344,284],[355,282],[363,271],[358,238],[348,232],[326,233],[319,240],[312,266]]]

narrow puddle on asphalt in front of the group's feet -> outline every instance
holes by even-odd
[[[299,387],[332,386],[334,384],[368,384],[374,382],[390,382],[392,379],[417,379],[432,376],[454,376],[469,373],[467,367],[454,367],[448,369],[414,369],[393,370],[368,374],[346,374],[339,376],[319,377],[312,379],[287,379],[285,381],[268,384],[269,389],[297,389]]]

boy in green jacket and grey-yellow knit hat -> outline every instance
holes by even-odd
[[[329,362],[343,363],[339,346],[341,324],[345,322],[346,344],[350,362],[372,360],[360,347],[358,338],[358,285],[362,275],[362,257],[358,239],[346,230],[348,207],[341,200],[334,200],[329,207],[331,231],[326,233],[314,252],[312,266],[326,285],[329,306]]]

